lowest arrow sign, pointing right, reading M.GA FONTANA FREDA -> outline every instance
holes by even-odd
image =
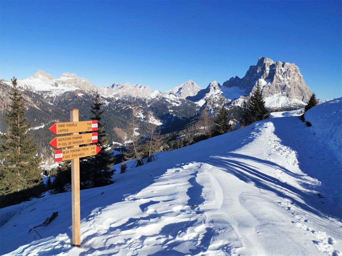
[[[97,145],[85,147],[73,147],[65,150],[55,150],[55,162],[66,161],[75,158],[94,156],[100,152],[101,147]]]

